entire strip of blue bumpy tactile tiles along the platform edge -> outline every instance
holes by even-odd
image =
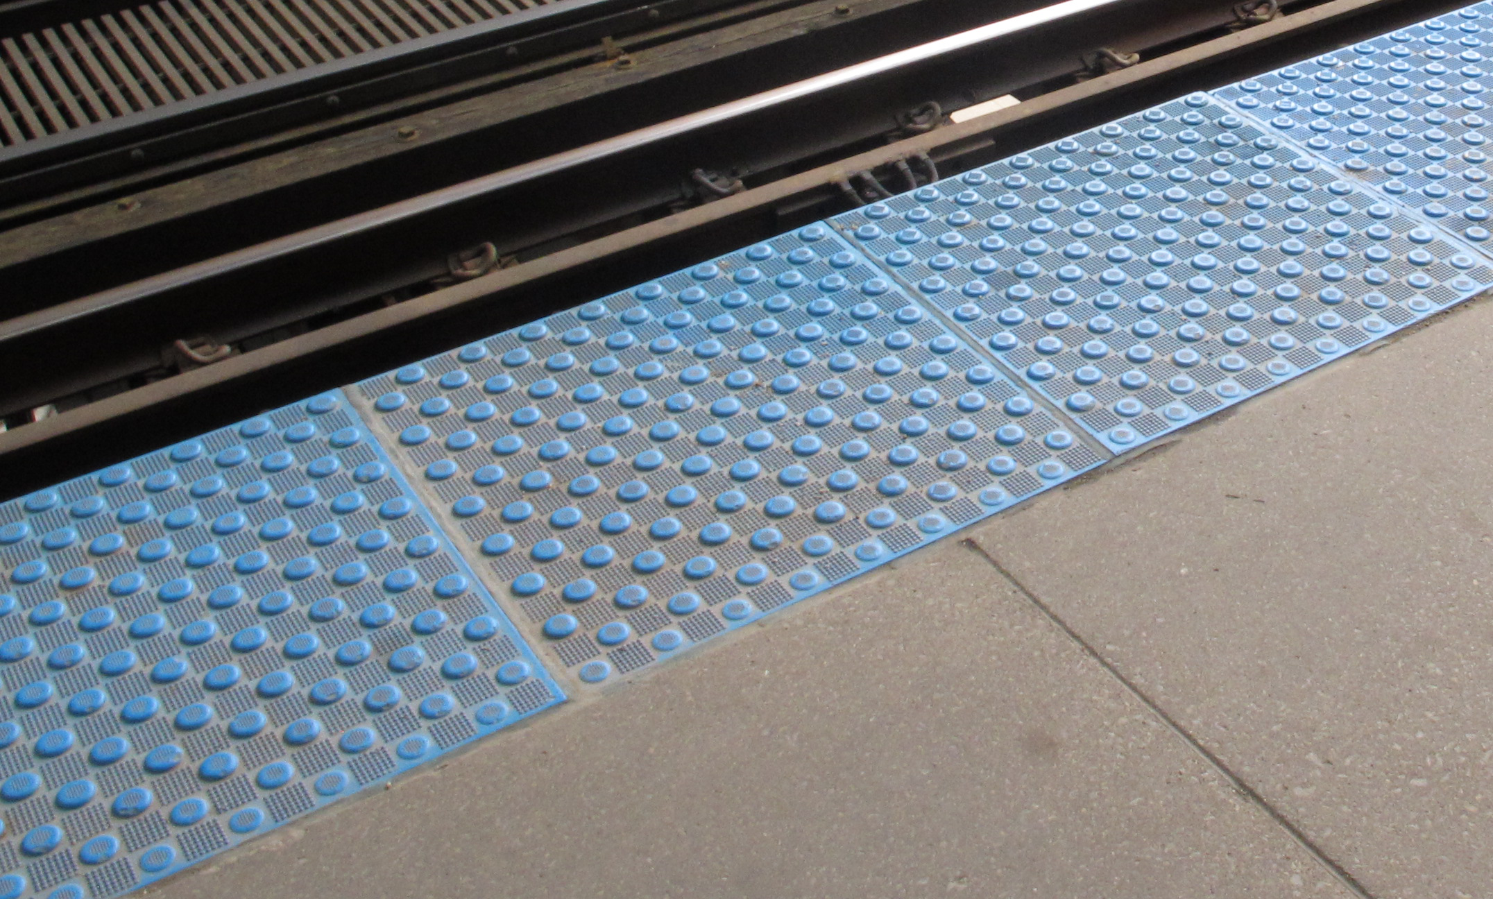
[[[617,679],[1486,290],[1490,31],[1481,3],[0,505],[0,899],[128,892],[563,700],[520,630]]]

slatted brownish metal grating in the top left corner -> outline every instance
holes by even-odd
[[[0,148],[545,4],[161,0],[0,37]]]

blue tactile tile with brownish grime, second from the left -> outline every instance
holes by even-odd
[[[355,393],[585,682],[1100,463],[823,224]]]

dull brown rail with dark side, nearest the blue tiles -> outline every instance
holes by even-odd
[[[1206,88],[1309,57],[1327,48],[1426,18],[1462,0],[1327,0],[1320,6],[1217,37],[1138,66],[1075,84],[999,112],[936,128],[858,155],[791,175],[741,194],[560,249],[485,278],[358,315],[287,340],[230,357],[143,387],[0,433],[0,497],[60,481],[128,452],[158,445],[161,435],[187,438],[255,411],[305,396],[308,384],[331,387],[376,373],[396,361],[449,346],[452,333],[485,335],[506,327],[506,309],[557,308],[602,296],[639,281],[638,266],[670,270],[694,258],[678,248],[696,246],[761,220],[763,236],[781,230],[775,214],[784,203],[814,206],[836,196],[835,181],[915,152],[960,157],[981,154],[997,134],[1078,116],[1103,121],[1097,111],[1135,105],[1135,97],[1163,99]],[[1324,36],[1314,36],[1326,31]],[[1302,43],[1308,40],[1309,43]],[[1250,60],[1259,54],[1262,61]],[[1227,75],[1218,75],[1223,70]],[[1142,100],[1144,105],[1144,100]],[[1066,131],[1070,131],[1069,127]],[[670,249],[672,248],[672,249]],[[502,300],[502,302],[497,302]],[[537,303],[537,306],[536,306]],[[148,435],[148,436],[145,436]]]

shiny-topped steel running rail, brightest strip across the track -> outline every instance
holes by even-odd
[[[864,78],[875,75],[882,75],[893,72],[903,66],[926,61],[935,57],[947,55],[956,51],[967,49],[970,46],[994,40],[997,37],[1006,37],[1020,31],[1026,31],[1039,25],[1051,24],[1065,18],[1070,18],[1084,12],[1091,12],[1105,6],[1115,6],[1118,3],[1129,3],[1133,0],[1065,0],[1063,3],[1056,3],[1053,6],[1045,6],[1042,9],[1035,9],[1015,15],[1011,18],[999,19],[967,31],[960,31],[957,34],[950,34],[947,37],[939,37],[938,40],[930,40],[917,46],[909,46],[906,49],[887,54],[884,57],[876,57],[873,60],[866,60],[863,63],[855,63],[854,66],[847,66],[844,69],[836,69],[824,75],[817,75],[814,78],[806,78],[779,88],[763,91],[760,94],[752,94],[749,97],[742,97],[741,100],[732,100],[729,103],[721,103],[699,112],[672,118],[654,125],[638,128],[635,131],[627,131],[624,134],[617,134],[605,140],[597,140],[594,143],[587,143],[575,149],[567,149],[564,152],[549,155],[540,160],[533,160],[511,169],[503,169],[500,172],[493,172],[491,175],[484,175],[481,178],[473,178],[470,181],[463,181],[451,187],[445,187],[427,194],[417,197],[409,197],[408,200],[400,200],[397,203],[390,203],[378,209],[370,209],[367,212],[360,212],[357,215],[349,215],[337,221],[330,221],[303,231],[296,231],[276,237],[273,240],[266,240],[263,243],[255,243],[252,246],[245,246],[243,249],[236,249],[213,258],[203,260],[200,263],[193,263],[173,269],[170,272],[163,272],[151,278],[143,278],[131,284],[124,284],[121,287],[109,288],[93,296],[79,297],[66,303],[60,303],[49,309],[40,309],[27,315],[12,318],[9,321],[0,323],[0,343],[7,339],[21,337],[24,335],[39,332],[43,329],[55,327],[58,324],[82,318],[103,309],[110,309],[148,297],[151,294],[173,290],[178,287],[190,285],[199,281],[206,281],[228,272],[234,272],[257,263],[272,260],[285,254],[311,249],[322,243],[346,237],[349,234],[358,234],[363,231],[370,231],[393,223],[399,223],[426,212],[436,211],[442,206],[449,206],[463,200],[479,197],[506,187],[523,184],[534,178],[542,178],[554,175],[557,172],[564,172],[576,166],[587,163],[594,163],[609,155],[617,155],[630,149],[638,149],[649,143],[657,143],[678,134],[705,128],[723,121],[738,118],[742,115],[761,112],[764,109],[781,106],[793,100],[808,97],[811,94],[823,93],[842,87]]]

